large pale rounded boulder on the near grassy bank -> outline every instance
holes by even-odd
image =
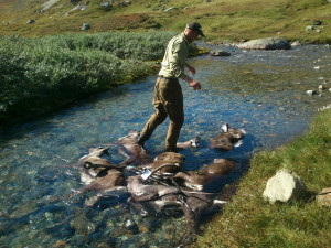
[[[302,198],[306,193],[302,180],[292,171],[282,169],[268,180],[264,197],[270,203],[288,202],[292,198]]]

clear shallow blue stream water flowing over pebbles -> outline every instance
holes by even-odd
[[[216,48],[216,47],[212,47]],[[275,148],[302,133],[331,93],[306,95],[321,84],[331,87],[329,46],[290,51],[241,51],[229,57],[204,55],[191,61],[203,89],[182,83],[185,123],[180,141],[195,136],[202,147],[186,150],[186,170],[214,158],[236,161],[236,169],[209,191],[222,192],[246,170],[254,150]],[[141,130],[152,114],[156,76],[104,93],[67,110],[0,134],[1,247],[172,247],[183,234],[180,213],[140,217],[126,204],[126,193],[109,195],[97,207],[84,207],[94,195],[66,198],[82,187],[74,164],[88,147],[114,143],[130,129]],[[244,144],[231,152],[211,151],[209,139],[223,122],[244,128]],[[160,126],[147,150],[163,150],[168,122]],[[113,161],[121,158],[111,147]]]

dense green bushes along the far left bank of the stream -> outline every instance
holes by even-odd
[[[151,73],[173,32],[0,36],[0,122]],[[191,47],[195,51],[194,46]]]

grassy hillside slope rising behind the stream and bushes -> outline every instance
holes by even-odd
[[[73,3],[73,1],[75,1]],[[241,41],[266,36],[331,43],[329,0],[0,0],[0,34],[24,36],[83,32],[173,30],[199,21],[209,40]],[[105,2],[104,2],[105,3]],[[28,24],[29,20],[34,23]],[[322,25],[307,32],[316,21]]]

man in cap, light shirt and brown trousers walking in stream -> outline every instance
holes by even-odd
[[[178,152],[175,144],[184,122],[183,94],[178,78],[188,82],[194,90],[201,89],[199,82],[184,73],[184,68],[188,67],[192,75],[195,74],[195,68],[186,63],[186,58],[189,44],[196,41],[199,35],[204,37],[201,25],[197,22],[191,22],[183,33],[170,40],[154,86],[153,106],[156,112],[142,129],[138,144],[143,145],[156,128],[169,116],[170,125],[164,151]]]

